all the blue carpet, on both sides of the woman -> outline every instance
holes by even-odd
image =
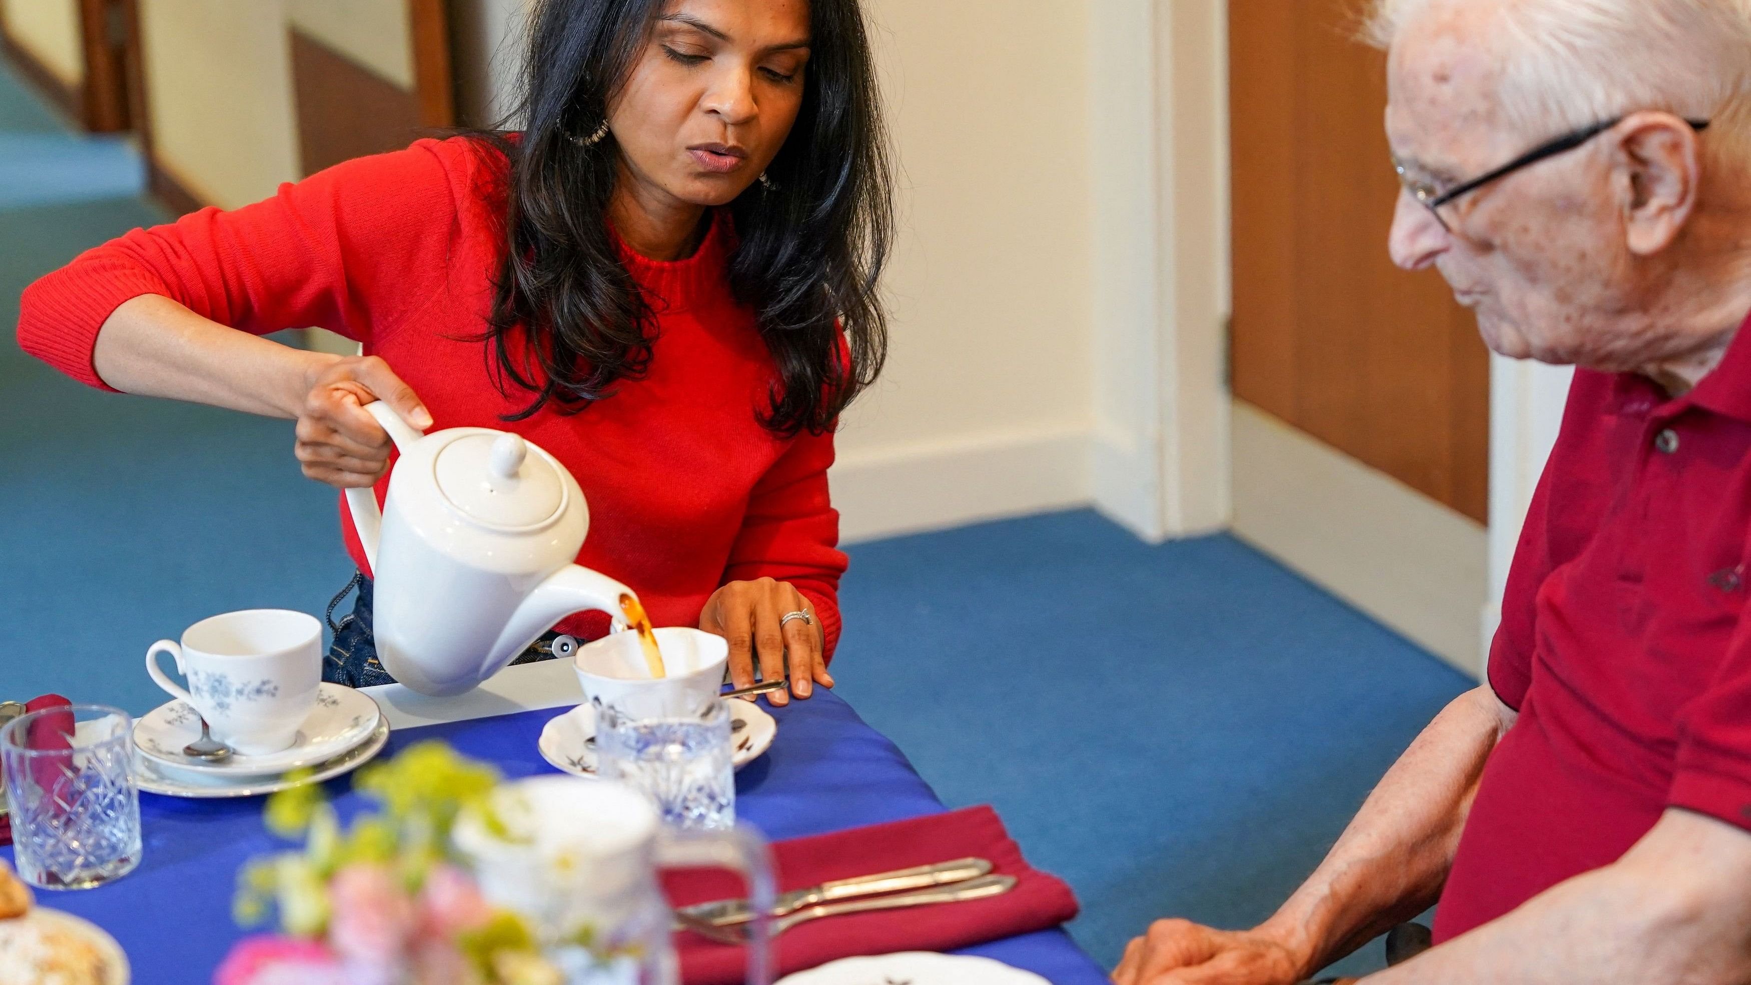
[[[53,159],[26,161],[53,142],[21,133],[54,121],[0,75],[0,182]],[[40,273],[161,220],[95,198],[126,170],[105,168],[0,192],[4,324]],[[352,570],[289,422],[100,394],[12,345],[0,420],[0,696],[144,712],[154,639],[228,609],[320,612]],[[1063,513],[851,555],[840,691],[947,801],[1003,812],[1108,966],[1154,917],[1264,917],[1467,686],[1231,537],[1147,546]]]

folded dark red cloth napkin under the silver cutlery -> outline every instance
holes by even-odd
[[[1030,866],[989,807],[779,842],[772,854],[779,892],[968,856],[989,859],[993,873],[1019,880],[1016,889],[989,899],[809,920],[774,943],[777,975],[863,954],[954,950],[1044,931],[1077,915],[1070,887]],[[676,906],[746,894],[735,877],[718,871],[671,873],[664,889]],[[690,931],[676,933],[674,947],[685,985],[739,985],[744,978],[746,948],[713,943]]]

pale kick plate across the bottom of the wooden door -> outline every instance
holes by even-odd
[[[1233,429],[1234,534],[1476,677],[1483,525],[1240,401]]]

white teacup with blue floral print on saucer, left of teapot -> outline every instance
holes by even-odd
[[[189,679],[179,688],[158,667],[177,658]],[[243,756],[289,749],[317,703],[322,684],[322,623],[305,612],[247,609],[194,623],[182,644],[158,640],[145,651],[145,672],[159,688],[194,707],[214,738]]]

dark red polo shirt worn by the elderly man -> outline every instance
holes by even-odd
[[[1574,374],[1490,649],[1520,719],[1485,766],[1436,940],[1616,861],[1669,807],[1751,828],[1747,532],[1751,331],[1677,399]]]

